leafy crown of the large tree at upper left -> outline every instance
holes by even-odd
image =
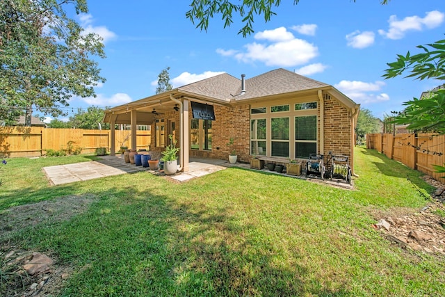
[[[15,113],[0,109],[0,118],[26,113],[26,125],[36,109],[63,115],[72,95],[95,96],[104,82],[92,56],[104,58],[102,38],[85,34],[64,8],[87,13],[86,0],[0,1],[0,101]]]

